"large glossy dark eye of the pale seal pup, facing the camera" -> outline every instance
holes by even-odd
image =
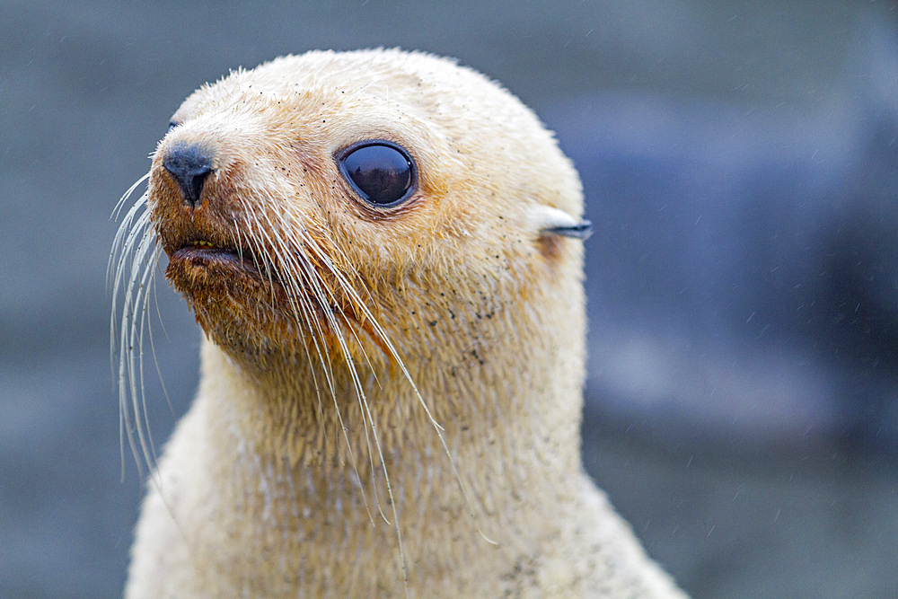
[[[337,163],[357,194],[374,206],[396,206],[411,195],[415,166],[398,145],[385,141],[352,145],[338,154]]]

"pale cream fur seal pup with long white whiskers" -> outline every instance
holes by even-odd
[[[146,178],[110,264],[147,460],[163,253],[206,337],[126,595],[679,595],[582,469],[582,191],[509,92],[281,57],[189,96]]]

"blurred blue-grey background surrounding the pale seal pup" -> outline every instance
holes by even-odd
[[[898,8],[0,2],[0,595],[119,595],[106,264],[172,112],[236,66],[401,46],[497,78],[585,184],[587,470],[692,595],[898,591]],[[200,333],[158,285],[157,443]]]

